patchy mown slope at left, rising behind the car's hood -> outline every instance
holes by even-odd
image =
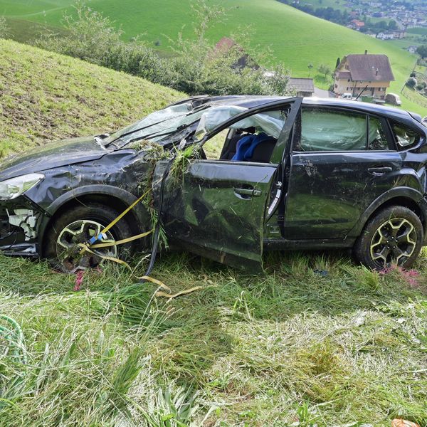
[[[0,155],[110,132],[185,97],[125,73],[0,39]]]

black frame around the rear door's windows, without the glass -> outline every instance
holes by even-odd
[[[372,114],[367,111],[357,110],[356,108],[343,108],[343,107],[335,107],[334,105],[302,105],[301,111],[303,109],[315,109],[315,110],[324,110],[327,112],[337,112],[337,113],[351,113],[357,115],[364,115],[366,117],[366,145],[365,149],[341,149],[341,150],[313,150],[313,151],[302,151],[300,149],[301,143],[301,134],[302,134],[302,115],[299,115],[297,118],[296,125],[298,127],[297,138],[294,139],[292,143],[292,154],[331,154],[331,153],[362,153],[362,152],[397,152],[396,142],[394,138],[394,133],[391,131],[390,123],[382,116]],[[384,133],[386,134],[386,139],[389,145],[389,149],[368,149],[369,142],[369,119],[370,117],[374,117],[378,119],[383,127]]]

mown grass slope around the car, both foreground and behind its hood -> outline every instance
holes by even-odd
[[[0,52],[0,130],[20,149],[125,125],[178,95],[18,43]],[[73,292],[73,276],[0,256],[0,312],[23,326],[29,359],[0,355],[0,426],[164,427],[184,390],[194,421],[216,408],[205,426],[287,426],[299,414],[306,427],[394,416],[426,427],[426,255],[416,277],[318,253],[269,256],[253,277],[165,254],[154,277],[203,287],[169,302],[116,265]]]

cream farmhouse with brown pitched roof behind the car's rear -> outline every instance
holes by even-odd
[[[394,80],[389,57],[386,55],[344,56],[334,72],[334,93],[373,96],[381,100]]]

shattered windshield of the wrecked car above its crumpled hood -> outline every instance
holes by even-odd
[[[164,108],[164,110],[147,115],[133,125],[118,130],[105,140],[105,144],[111,144],[117,139],[120,139],[121,146],[142,138],[157,141],[162,139],[164,134],[173,133],[181,127],[196,122],[209,107],[210,105],[202,105],[193,108],[191,103],[172,105]]]

